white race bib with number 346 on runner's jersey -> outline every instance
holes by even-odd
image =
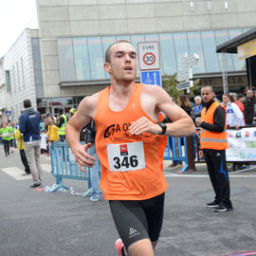
[[[145,169],[142,141],[124,144],[107,144],[109,171],[126,172]]]

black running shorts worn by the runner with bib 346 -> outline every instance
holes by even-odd
[[[115,225],[126,248],[141,239],[158,240],[163,223],[164,195],[139,201],[109,201]]]

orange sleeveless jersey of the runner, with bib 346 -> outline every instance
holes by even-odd
[[[140,105],[143,85],[134,83],[127,106],[119,112],[109,107],[110,87],[99,94],[96,149],[101,161],[101,190],[106,200],[144,200],[168,188],[163,174],[167,137],[129,133],[130,122],[141,117],[150,119]]]

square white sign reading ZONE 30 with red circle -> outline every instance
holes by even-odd
[[[137,52],[140,70],[153,70],[160,68],[158,42],[138,43]]]

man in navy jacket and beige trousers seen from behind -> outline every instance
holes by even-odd
[[[20,132],[25,142],[25,153],[27,155],[28,165],[32,174],[33,185],[31,188],[42,187],[42,168],[40,164],[40,120],[41,116],[38,111],[31,107],[31,101],[23,101],[25,108],[19,119]]]

